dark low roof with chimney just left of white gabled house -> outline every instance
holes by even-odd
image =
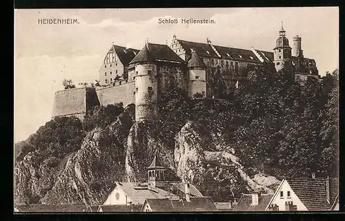
[[[265,211],[273,194],[261,194],[259,203],[252,205],[252,194],[243,194],[233,211]]]

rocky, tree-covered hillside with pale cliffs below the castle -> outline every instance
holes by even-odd
[[[151,123],[121,104],[95,107],[83,122],[50,120],[15,145],[15,203],[99,204],[115,181],[146,180],[156,152],[168,180],[193,182],[215,201],[312,171],[337,176],[337,71],[299,85],[270,70],[248,73],[223,100],[170,91]]]

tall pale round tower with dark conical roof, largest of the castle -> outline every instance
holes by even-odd
[[[150,54],[150,43],[135,56],[135,120],[150,120],[157,116],[157,65]]]

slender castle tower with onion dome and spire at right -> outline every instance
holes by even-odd
[[[277,39],[277,45],[274,50],[274,61],[275,70],[279,71],[291,62],[291,48],[288,45],[288,39],[285,36],[285,30],[282,28],[279,30],[279,37]]]

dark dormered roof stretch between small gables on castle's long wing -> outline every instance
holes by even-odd
[[[213,45],[222,59],[246,61],[251,63],[261,63],[257,56],[251,51],[240,48],[228,48],[219,45]]]

